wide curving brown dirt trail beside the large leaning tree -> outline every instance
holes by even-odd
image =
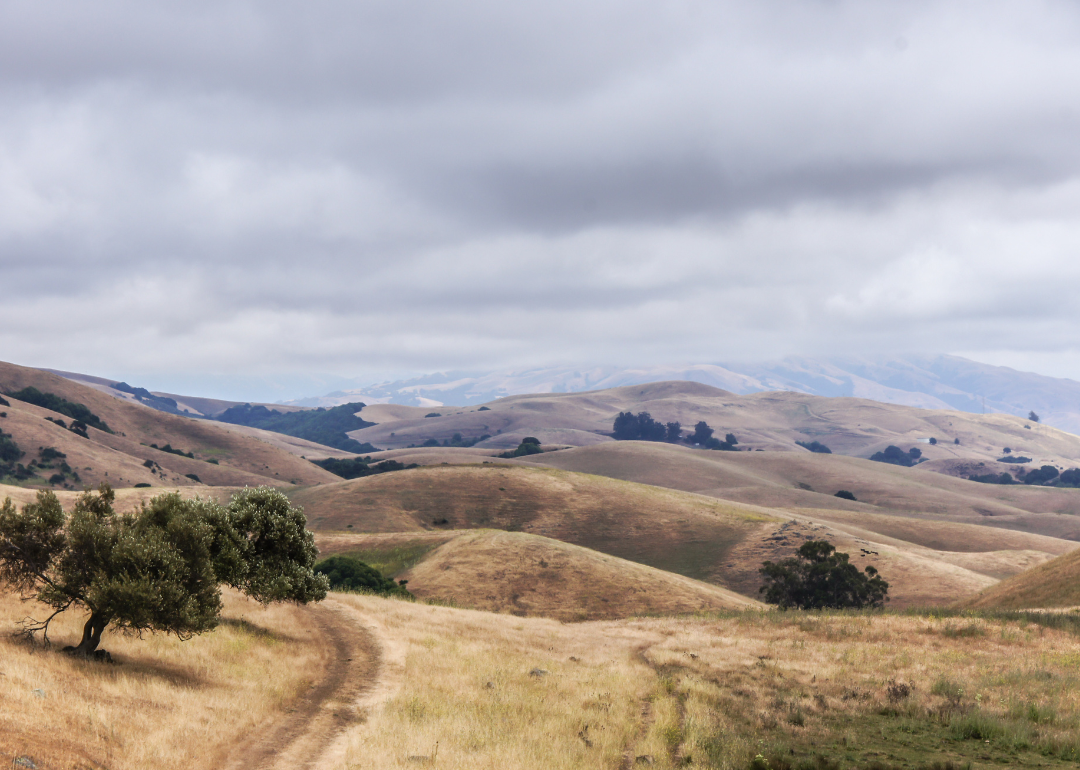
[[[321,767],[321,757],[351,724],[367,718],[368,693],[386,689],[381,646],[363,618],[326,599],[303,611],[325,652],[322,678],[283,715],[230,747],[224,770]]]

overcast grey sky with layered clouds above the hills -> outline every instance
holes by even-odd
[[[0,4],[27,366],[204,395],[792,354],[1080,379],[1078,213],[1071,1]]]

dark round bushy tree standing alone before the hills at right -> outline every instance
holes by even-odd
[[[865,575],[836,553],[826,540],[808,540],[798,555],[782,562],[766,562],[758,570],[765,576],[760,592],[765,600],[780,609],[824,609],[880,607],[888,600],[889,583],[877,569],[867,566]]]

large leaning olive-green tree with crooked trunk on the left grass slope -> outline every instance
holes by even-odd
[[[56,496],[38,492],[17,512],[0,505],[0,581],[53,609],[24,632],[41,632],[60,612],[90,612],[82,639],[66,651],[89,656],[106,626],[165,632],[181,639],[213,630],[220,585],[270,602],[318,602],[328,582],[312,565],[318,553],[303,513],[275,489],[245,489],[227,506],[161,495],[134,514],[112,510],[103,484],[67,516]]]

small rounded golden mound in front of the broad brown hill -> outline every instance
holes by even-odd
[[[395,541],[406,549],[422,543],[430,550],[395,578],[422,599],[492,612],[582,621],[762,607],[718,585],[537,535],[481,529],[424,536],[339,536],[319,545],[324,554],[369,558]]]

